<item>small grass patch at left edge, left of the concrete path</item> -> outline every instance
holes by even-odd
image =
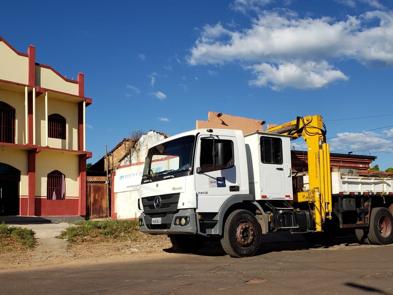
[[[33,230],[0,224],[0,253],[31,249],[34,244]]]

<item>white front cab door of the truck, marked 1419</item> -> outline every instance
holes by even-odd
[[[224,160],[215,165],[213,147],[222,144]],[[237,141],[232,136],[206,136],[198,139],[195,153],[195,167],[202,171],[195,173],[197,212],[219,212],[219,208],[231,195],[241,194],[240,173],[236,169],[239,161]]]

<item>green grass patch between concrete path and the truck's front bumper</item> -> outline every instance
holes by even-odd
[[[143,236],[139,231],[138,220],[86,220],[77,221],[76,225],[62,231],[57,238],[81,243],[107,240],[135,241]]]

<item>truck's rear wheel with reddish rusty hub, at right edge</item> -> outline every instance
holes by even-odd
[[[388,245],[393,241],[393,216],[384,207],[371,210],[370,228],[367,238],[374,245]]]

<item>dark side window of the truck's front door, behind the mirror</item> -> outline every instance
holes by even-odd
[[[224,164],[214,166],[213,160],[213,142],[214,144],[222,143],[224,145]],[[234,166],[233,159],[233,142],[232,140],[222,140],[213,138],[202,138],[200,142],[200,168],[204,172],[222,170]]]

